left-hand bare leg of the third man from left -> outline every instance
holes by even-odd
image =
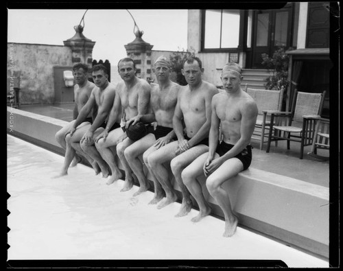
[[[123,135],[123,130],[121,128],[117,128],[113,131],[110,131],[106,141],[104,139],[100,139],[97,143],[95,143],[95,147],[99,154],[104,158],[104,161],[108,163],[110,170],[112,172],[112,176],[106,182],[107,185],[113,184],[116,180],[123,178],[123,174],[115,161],[115,146],[117,145],[117,140],[119,137]],[[113,152],[114,151],[114,152]]]

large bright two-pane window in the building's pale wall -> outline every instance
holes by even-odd
[[[239,45],[239,10],[204,12],[204,49],[237,48]]]

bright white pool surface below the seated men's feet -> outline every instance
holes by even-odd
[[[174,217],[180,203],[148,204],[153,193],[120,192],[93,169],[77,165],[51,178],[63,157],[10,135],[8,139],[8,260],[228,259],[282,260],[289,268],[328,268],[329,262],[240,226],[222,237],[224,221]]]

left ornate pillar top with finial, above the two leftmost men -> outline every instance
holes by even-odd
[[[91,68],[93,62],[92,53],[95,41],[86,38],[84,34],[82,34],[84,30],[82,25],[75,25],[74,30],[76,32],[75,35],[72,38],[63,41],[64,46],[71,47],[71,62],[73,65],[76,63],[84,63]]]

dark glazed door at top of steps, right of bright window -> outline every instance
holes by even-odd
[[[258,10],[252,34],[252,68],[264,69],[262,54],[272,57],[279,47],[288,49],[292,33],[292,8]]]

